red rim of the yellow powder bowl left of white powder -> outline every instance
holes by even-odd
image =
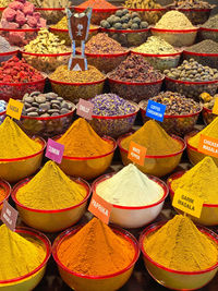
[[[68,210],[72,210],[74,208],[77,208],[78,206],[83,205],[84,203],[87,202],[87,199],[89,198],[90,194],[92,194],[92,187],[89,186],[88,182],[86,182],[85,180],[83,180],[82,178],[74,178],[74,177],[69,177],[72,181],[77,182],[78,184],[81,184],[85,190],[86,190],[86,195],[83,198],[82,202],[80,202],[76,205],[66,207],[66,208],[62,208],[62,209],[53,209],[53,210],[43,210],[43,209],[35,209],[35,208],[31,208],[28,206],[23,205],[22,203],[20,203],[16,198],[16,194],[17,191],[26,185],[34,177],[29,177],[29,178],[25,178],[22,181],[20,181],[19,183],[16,183],[13,186],[12,193],[11,193],[11,197],[13,199],[13,202],[19,205],[20,207],[22,207],[25,210],[32,211],[32,213],[39,213],[39,214],[58,214],[58,213],[63,213],[63,211],[68,211]]]

